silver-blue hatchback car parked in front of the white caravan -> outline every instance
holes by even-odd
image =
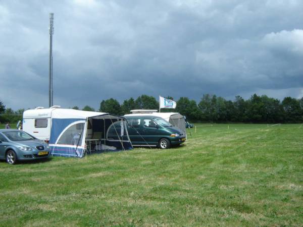
[[[18,160],[32,160],[49,157],[48,145],[16,129],[0,130],[0,159],[9,164],[15,164]]]

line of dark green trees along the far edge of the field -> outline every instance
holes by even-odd
[[[166,97],[173,100],[173,97]],[[303,97],[296,99],[285,97],[282,101],[267,95],[253,94],[247,100],[236,96],[234,100],[226,100],[216,95],[204,94],[197,103],[188,97],[180,97],[176,101],[176,109],[161,109],[161,112],[179,112],[192,122],[239,122],[239,123],[302,123]],[[72,107],[80,109],[78,106]],[[82,110],[109,112],[125,115],[132,109],[157,109],[159,102],[153,96],[141,95],[124,100],[121,104],[114,98],[102,100],[98,110],[84,106]],[[16,122],[22,119],[24,109],[13,111],[5,108],[0,101],[0,121]]]

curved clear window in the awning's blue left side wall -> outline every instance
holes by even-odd
[[[84,128],[84,123],[78,123],[70,126],[59,138],[57,144],[66,144],[66,145],[77,145],[81,144]],[[80,138],[81,136],[81,138]]]

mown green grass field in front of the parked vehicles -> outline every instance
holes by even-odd
[[[190,132],[168,150],[2,161],[0,225],[303,225],[303,126]]]

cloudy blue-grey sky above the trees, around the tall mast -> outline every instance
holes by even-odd
[[[142,94],[303,96],[301,0],[0,0],[0,100],[95,109]]]

